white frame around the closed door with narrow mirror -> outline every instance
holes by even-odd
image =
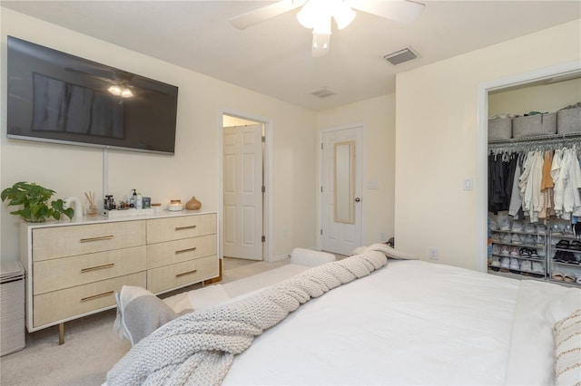
[[[363,151],[362,149],[364,149],[363,144],[365,143],[365,125],[363,123],[352,123],[352,124],[347,124],[347,125],[341,125],[341,126],[334,126],[331,128],[327,128],[327,129],[321,129],[319,130],[319,144],[318,144],[318,151],[317,154],[319,155],[319,175],[318,175],[318,181],[317,181],[317,190],[318,190],[318,194],[317,194],[317,207],[319,208],[319,210],[317,211],[317,249],[321,250],[322,249],[322,235],[321,235],[321,231],[322,231],[322,227],[323,227],[323,206],[322,206],[322,192],[320,191],[320,188],[322,187],[322,183],[323,183],[323,157],[322,157],[322,150],[320,149],[321,144],[323,143],[323,135],[328,133],[328,132],[332,132],[332,131],[340,131],[340,130],[349,130],[349,129],[359,129],[361,132],[361,142],[359,144],[359,153],[356,154],[357,156],[357,163],[356,163],[356,172],[359,172],[359,179],[360,179],[360,187],[359,187],[359,198],[361,198],[361,201],[359,202],[359,207],[361,210],[361,224],[359,224],[359,229],[360,229],[360,234],[361,234],[361,243],[365,244],[365,192],[363,189],[364,183],[363,181],[365,180],[365,151]],[[357,150],[357,147],[356,147]],[[357,196],[357,189],[356,189],[356,196]]]

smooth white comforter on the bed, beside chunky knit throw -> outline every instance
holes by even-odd
[[[257,337],[224,384],[551,384],[552,326],[580,294],[390,260]]]

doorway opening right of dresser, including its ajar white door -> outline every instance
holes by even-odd
[[[271,122],[221,112],[222,257],[269,261]]]

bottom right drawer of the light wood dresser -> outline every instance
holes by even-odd
[[[218,257],[206,256],[147,271],[147,289],[153,294],[191,285],[218,275]]]

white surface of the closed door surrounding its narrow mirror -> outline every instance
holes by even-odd
[[[347,255],[362,243],[361,162],[358,159],[362,128],[330,130],[322,135],[321,162],[321,248]],[[355,141],[355,223],[335,222],[335,142]]]

